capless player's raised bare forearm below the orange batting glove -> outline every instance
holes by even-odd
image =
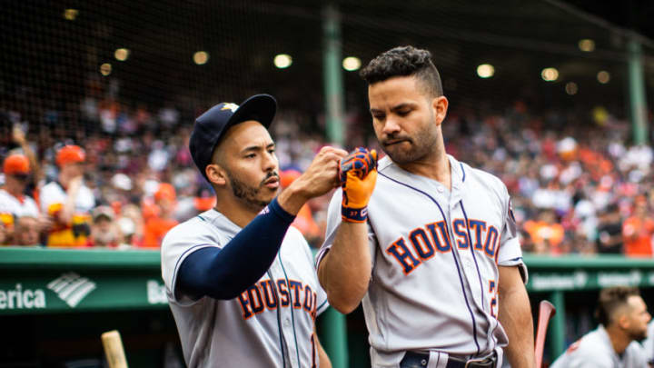
[[[341,313],[351,313],[368,291],[371,274],[367,225],[342,223],[318,268],[330,305]]]

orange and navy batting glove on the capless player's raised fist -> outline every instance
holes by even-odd
[[[339,166],[342,187],[342,221],[363,223],[368,202],[377,181],[377,151],[359,147],[343,158]]]

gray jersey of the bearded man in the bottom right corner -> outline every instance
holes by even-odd
[[[631,342],[618,355],[603,326],[585,334],[568,351],[554,361],[550,368],[648,368],[645,352],[639,343]]]

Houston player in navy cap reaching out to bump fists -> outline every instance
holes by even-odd
[[[197,118],[193,161],[216,205],[163,239],[162,275],[189,367],[331,367],[315,334],[328,306],[302,234],[290,227],[312,197],[340,184],[347,153],[324,147],[278,194],[268,133],[277,104],[258,94]]]

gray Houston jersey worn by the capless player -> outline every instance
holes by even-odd
[[[498,264],[524,267],[509,194],[497,177],[449,160],[451,191],[389,157],[379,162],[368,204],[372,278],[362,300],[375,367],[397,367],[405,351],[496,351],[501,361]],[[318,263],[341,222],[341,198],[332,198]]]

